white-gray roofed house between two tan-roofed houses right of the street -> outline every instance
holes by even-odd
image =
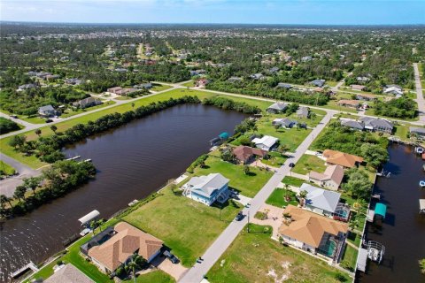
[[[299,191],[306,191],[307,196],[305,197],[305,209],[311,210],[315,213],[331,217],[339,203],[341,194],[328,191],[321,187],[314,187],[312,185],[304,183],[299,188]]]

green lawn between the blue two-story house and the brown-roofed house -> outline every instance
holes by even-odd
[[[257,195],[261,187],[272,177],[272,172],[266,172],[266,170],[260,171],[259,168],[255,167],[250,167],[250,174],[244,174],[243,165],[231,164],[213,155],[210,155],[208,159],[206,159],[205,165],[205,168],[197,167],[194,171],[194,175],[200,176],[209,173],[221,173],[230,180],[228,183],[229,187],[235,188],[240,191],[242,195],[248,197]]]

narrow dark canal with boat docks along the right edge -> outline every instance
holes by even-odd
[[[367,226],[367,240],[385,246],[383,263],[369,263],[367,274],[360,273],[359,282],[425,282],[418,260],[425,258],[425,215],[419,214],[419,199],[425,198],[424,162],[412,148],[391,145],[390,162],[384,171],[390,178],[378,177],[375,193],[381,194],[381,203],[387,205],[387,215],[382,228]]]

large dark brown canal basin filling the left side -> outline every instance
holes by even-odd
[[[65,149],[67,157],[92,158],[96,180],[5,222],[0,231],[0,282],[28,261],[37,264],[64,249],[62,241],[80,232],[78,218],[89,211],[99,210],[102,218],[109,218],[177,178],[208,152],[213,137],[232,134],[245,117],[213,106],[179,105]]]

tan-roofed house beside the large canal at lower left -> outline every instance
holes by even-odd
[[[112,237],[97,245],[99,241],[94,242],[94,247],[88,252],[93,264],[106,273],[114,272],[135,253],[150,263],[155,256],[158,256],[164,243],[126,222],[120,222],[114,226],[113,231],[104,236],[108,235]],[[99,240],[102,241],[102,239]]]

